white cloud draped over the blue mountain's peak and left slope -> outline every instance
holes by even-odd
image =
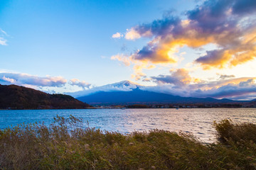
[[[132,81],[129,80],[125,80],[125,81],[120,81],[114,84],[107,84],[104,86],[97,86],[94,87],[92,89],[87,89],[85,91],[75,91],[73,93],[66,93],[70,96],[73,96],[75,98],[78,97],[82,97],[82,96],[88,96],[90,94],[95,94],[99,91],[105,91],[105,92],[109,92],[109,91],[132,91],[132,89],[137,89],[137,88],[141,88],[142,86],[134,83]]]

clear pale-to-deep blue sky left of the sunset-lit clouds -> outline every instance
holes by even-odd
[[[169,4],[166,6],[166,4]],[[129,69],[108,60],[141,47],[112,34],[161,17],[178,6],[168,1],[1,1],[1,69],[38,76],[62,76],[103,85],[129,79]],[[118,70],[118,72],[117,72]]]

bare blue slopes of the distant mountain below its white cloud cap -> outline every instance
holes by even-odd
[[[78,97],[89,104],[136,104],[136,103],[234,103],[229,99],[192,98],[143,91],[137,87],[132,91],[98,91],[95,94]]]

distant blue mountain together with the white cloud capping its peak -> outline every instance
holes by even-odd
[[[147,86],[132,81],[99,86],[95,89],[73,94],[78,100],[90,104],[135,104],[135,103],[235,103],[229,99],[181,97],[149,91]],[[84,95],[84,96],[82,96]]]

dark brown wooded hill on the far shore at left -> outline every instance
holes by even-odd
[[[68,95],[46,94],[23,86],[0,85],[0,109],[87,108],[89,106]]]

